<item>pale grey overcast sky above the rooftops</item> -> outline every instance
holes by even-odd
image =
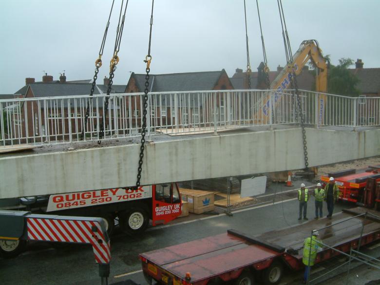
[[[255,0],[247,1],[251,67],[263,60]],[[43,71],[59,79],[91,79],[112,0],[12,0],[0,9],[0,94],[12,94],[25,77],[41,81]],[[109,74],[118,9],[115,0],[98,83]],[[151,0],[129,0],[114,84],[130,72],[144,73]],[[268,65],[284,66],[277,0],[259,0]],[[333,64],[342,57],[364,68],[380,67],[379,0],[283,0],[293,53],[304,39],[317,39]],[[116,9],[117,7],[117,9]],[[244,0],[155,0],[152,74],[215,71],[232,76],[246,69]]]

